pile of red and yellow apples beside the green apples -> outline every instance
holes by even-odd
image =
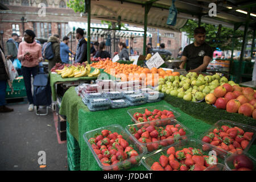
[[[217,109],[256,119],[256,93],[252,88],[224,84],[214,89],[213,94],[208,95],[205,96],[209,100],[208,104],[214,104]]]

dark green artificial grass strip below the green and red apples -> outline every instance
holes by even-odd
[[[164,100],[175,107],[179,107],[192,117],[201,119],[210,125],[213,125],[221,119],[225,119],[233,122],[243,123],[245,125],[256,126],[256,119],[253,119],[252,117],[247,117],[238,113],[228,113],[226,110],[216,109],[214,106],[209,105],[206,102],[198,103],[185,101],[183,98],[177,98],[167,94],[165,94]]]

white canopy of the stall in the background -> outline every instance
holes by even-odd
[[[83,22],[68,22],[68,32],[71,32],[73,28],[82,28],[86,32],[88,31],[88,23]],[[108,24],[101,24],[101,23],[90,23],[90,34],[91,35],[106,35],[108,34],[109,30],[106,30],[109,25]],[[144,29],[140,27],[132,27],[132,26],[125,26],[127,30],[116,30],[115,36],[120,36],[123,38],[135,38],[141,37],[144,35]],[[102,29],[101,29],[102,28]],[[148,37],[152,37],[152,34],[147,32]]]

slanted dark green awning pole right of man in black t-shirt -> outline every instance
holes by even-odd
[[[243,54],[244,54],[244,51],[245,51],[245,42],[246,42],[246,38],[247,38],[247,30],[248,30],[248,24],[249,24],[249,20],[250,20],[250,13],[251,13],[251,9],[249,9],[247,11],[246,22],[245,22],[245,30],[243,31],[243,43],[242,43],[242,49],[241,49],[241,53],[240,53],[238,74],[237,74],[237,78],[236,78],[236,82],[238,84],[241,82],[241,67],[242,67],[242,61],[243,61]]]

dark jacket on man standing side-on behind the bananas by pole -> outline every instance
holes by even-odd
[[[82,37],[82,40],[77,44],[76,63],[82,63],[87,60],[87,41]]]

